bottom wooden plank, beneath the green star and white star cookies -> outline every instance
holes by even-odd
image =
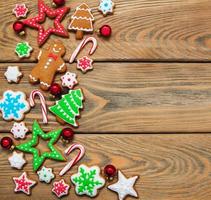
[[[86,147],[86,155],[80,163],[88,166],[105,166],[115,164],[128,177],[139,175],[136,190],[138,199],[144,200],[207,200],[211,198],[211,136],[201,135],[76,135],[75,142]],[[64,151],[62,142],[57,148]],[[127,147],[127,148],[125,148]],[[44,143],[39,146],[44,148]],[[0,154],[0,194],[1,199],[27,199],[24,194],[14,194],[14,184],[11,180],[19,176],[21,171],[11,169],[8,164],[10,152]],[[32,156],[26,156],[28,164],[24,170],[29,177],[38,181],[37,175],[32,171]],[[79,165],[79,164],[78,164]],[[77,166],[78,166],[77,165]],[[56,179],[59,180],[59,170],[64,163],[49,161],[45,166],[53,167]],[[64,178],[70,183],[70,176],[77,167],[67,173]],[[30,199],[56,199],[51,194],[51,185],[38,183],[32,190]],[[74,194],[73,186],[66,199],[79,199]],[[82,198],[88,199],[88,198]],[[102,189],[99,200],[117,199],[116,194]],[[131,199],[132,198],[128,198]]]

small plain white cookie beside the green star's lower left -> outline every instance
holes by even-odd
[[[26,163],[26,160],[23,158],[23,153],[17,153],[14,151],[12,156],[8,158],[11,167],[16,169],[22,169],[23,165]]]

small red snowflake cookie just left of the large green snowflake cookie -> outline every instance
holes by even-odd
[[[69,193],[69,188],[70,186],[65,183],[65,181],[62,179],[58,182],[53,183],[53,189],[52,192],[57,196],[57,197],[62,197],[66,196]]]

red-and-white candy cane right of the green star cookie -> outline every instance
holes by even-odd
[[[69,148],[65,150],[64,153],[66,155],[69,155],[75,149],[79,149],[78,155],[74,159],[72,159],[69,163],[67,163],[67,165],[60,171],[59,173],[60,176],[63,176],[64,174],[66,174],[67,171],[69,171],[84,156],[85,148],[80,144],[72,144]]]

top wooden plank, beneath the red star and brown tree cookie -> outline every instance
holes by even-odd
[[[24,1],[36,16],[37,1]],[[49,3],[49,1],[45,1]],[[98,61],[108,60],[210,60],[211,2],[208,0],[116,0],[115,14],[103,17],[97,11],[97,1],[67,1],[72,7],[63,24],[67,26],[77,5],[87,2],[96,18],[95,29],[110,24],[110,40],[98,38],[99,49],[93,55]],[[3,1],[0,7],[0,60],[18,61],[15,45],[26,40],[35,48],[30,61],[35,60],[37,31],[27,29],[27,36],[19,38],[12,30],[15,17],[11,12],[17,0]],[[46,26],[51,26],[47,22]],[[55,38],[55,37],[52,37]],[[75,34],[63,40],[67,47],[66,60],[79,42]],[[5,51],[4,49],[7,49]],[[86,54],[84,51],[82,54]],[[24,60],[25,61],[25,60]]]

